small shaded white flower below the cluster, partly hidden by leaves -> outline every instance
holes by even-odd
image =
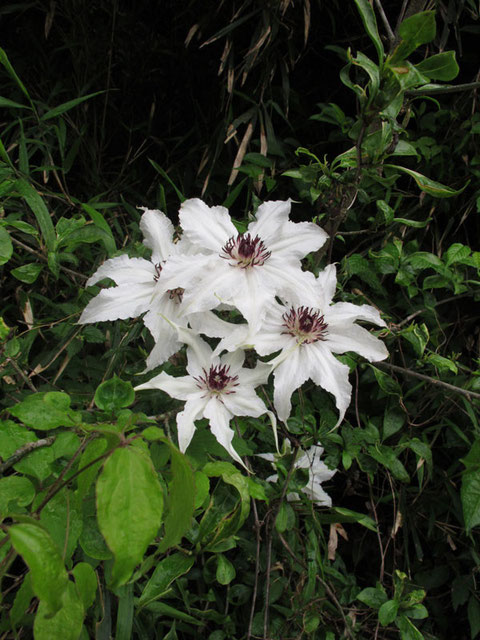
[[[308,482],[302,487],[302,492],[319,507],[331,507],[332,499],[322,487],[322,482],[327,482],[336,473],[336,469],[329,469],[327,465],[320,460],[323,453],[323,447],[314,445],[308,451],[303,451],[300,457],[297,457],[293,465],[294,469],[308,469]],[[272,453],[259,454],[261,458],[274,462],[276,456]],[[278,474],[271,475],[267,478],[267,482],[276,482]],[[292,492],[287,494],[287,500],[300,500],[298,493]]]

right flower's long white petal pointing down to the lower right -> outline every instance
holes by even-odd
[[[310,377],[322,389],[335,397],[339,411],[338,426],[345,416],[345,411],[352,398],[352,386],[348,381],[349,369],[339,362],[329,351],[324,342],[303,345],[310,360]]]

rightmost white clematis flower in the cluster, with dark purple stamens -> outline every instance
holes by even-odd
[[[329,265],[316,280],[315,298],[306,301],[310,306],[273,303],[261,330],[248,338],[259,355],[280,351],[269,364],[274,368],[274,405],[282,421],[290,415],[292,393],[311,379],[335,397],[338,426],[350,404],[352,387],[348,366],[333,354],[354,351],[370,362],[388,356],[381,340],[354,324],[366,320],[386,326],[379,312],[366,304],[331,304],[335,287],[335,266]]]

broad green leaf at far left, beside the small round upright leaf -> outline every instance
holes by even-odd
[[[77,424],[73,420],[77,412],[70,409],[70,396],[60,391],[32,393],[8,410],[27,427],[40,431]]]

